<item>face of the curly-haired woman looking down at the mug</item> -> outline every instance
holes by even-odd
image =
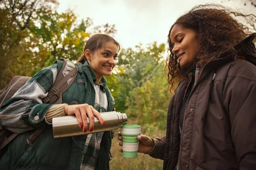
[[[191,66],[195,62],[199,48],[196,32],[176,24],[172,28],[170,38],[173,44],[172,52],[177,55],[180,67]]]

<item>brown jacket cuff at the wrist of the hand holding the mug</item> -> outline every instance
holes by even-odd
[[[152,139],[152,138],[151,138]],[[149,154],[153,158],[162,159],[164,158],[164,149],[165,149],[165,143],[166,143],[166,137],[163,137],[161,139],[153,139],[154,141],[154,148],[145,153]]]

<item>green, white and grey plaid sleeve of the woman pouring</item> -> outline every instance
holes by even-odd
[[[46,123],[52,104],[42,103],[57,77],[57,63],[44,68],[23,85],[0,109],[0,124],[15,133],[24,133]]]

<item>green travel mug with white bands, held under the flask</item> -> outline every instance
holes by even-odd
[[[139,149],[139,125],[123,125],[121,128],[123,157],[136,158]]]

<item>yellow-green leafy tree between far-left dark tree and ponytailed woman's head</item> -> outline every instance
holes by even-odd
[[[38,48],[38,51],[35,51],[36,59],[41,57],[40,59],[44,60],[44,65],[38,64],[38,70],[51,65],[56,59],[66,58],[74,61],[81,54],[90,35],[86,28],[92,23],[87,18],[77,24],[76,18],[70,10],[62,14],[56,11],[38,11],[34,26],[30,27]]]

